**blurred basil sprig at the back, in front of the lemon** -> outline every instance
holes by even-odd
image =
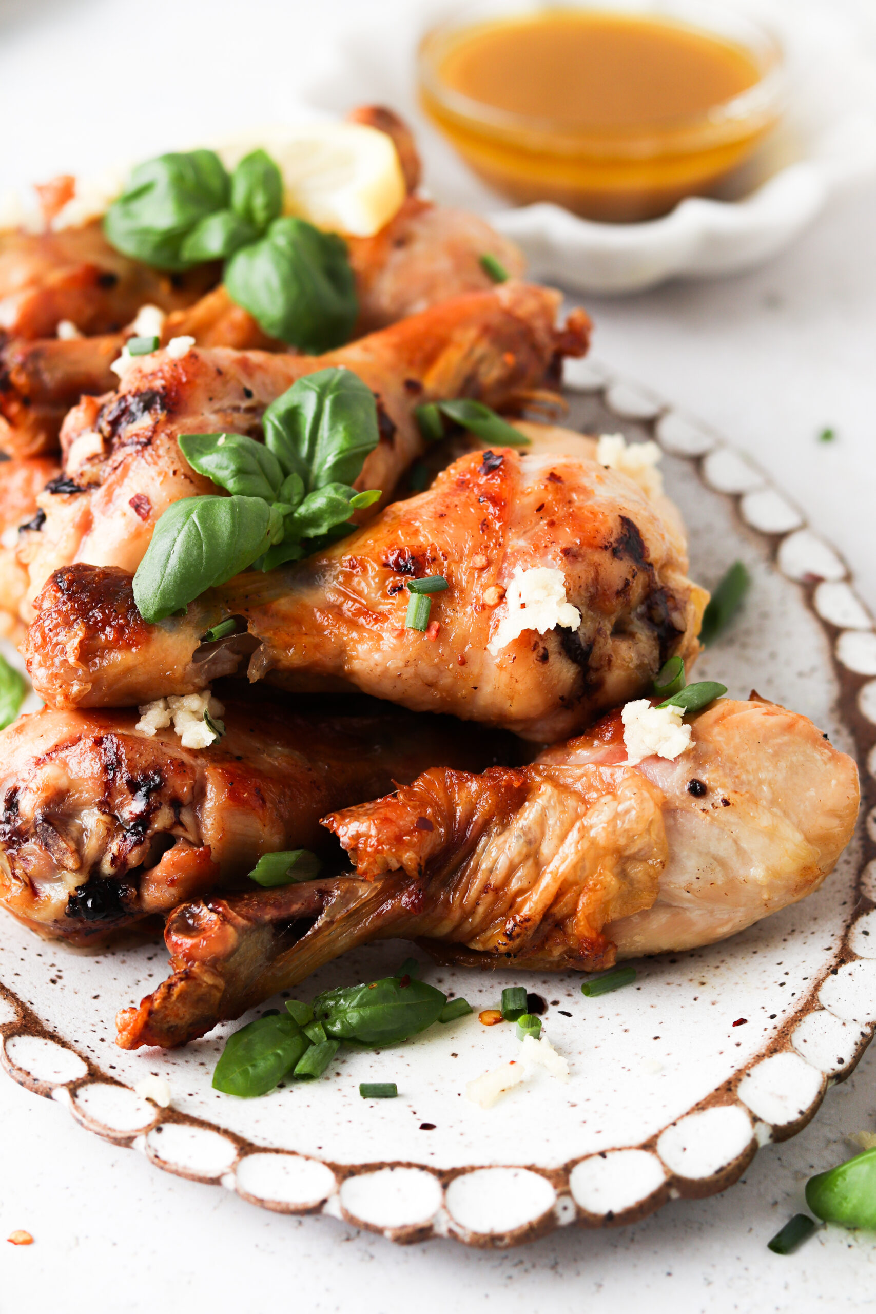
[[[273,338],[318,355],[352,334],[359,314],[347,246],[282,217],[282,175],[256,150],[231,175],[215,151],[139,164],[104,218],[117,251],[179,272],[225,260],[229,296]]]

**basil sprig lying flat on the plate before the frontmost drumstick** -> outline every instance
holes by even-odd
[[[464,1000],[448,1005],[447,995],[418,980],[416,971],[418,964],[407,962],[395,976],[324,991],[313,1005],[286,1000],[288,1016],[265,1013],[226,1041],[214,1089],[243,1097],[265,1095],[284,1077],[320,1076],[341,1042],[401,1045],[435,1022],[471,1012]]]

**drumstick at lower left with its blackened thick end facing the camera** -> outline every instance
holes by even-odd
[[[43,710],[0,733],[3,907],[43,934],[104,941],[247,884],[263,853],[331,846],[327,808],[433,761],[481,767],[500,742],[391,708],[293,714],[250,698],[223,721],[208,749],[172,729],[148,737],[135,712]]]

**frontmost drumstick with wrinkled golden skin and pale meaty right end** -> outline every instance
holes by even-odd
[[[118,1014],[118,1043],[183,1045],[368,941],[595,971],[713,943],[804,899],[851,838],[854,761],[756,698],[691,720],[674,761],[626,765],[615,712],[531,766],[433,769],[327,817],[355,876],[176,908],[173,974]]]

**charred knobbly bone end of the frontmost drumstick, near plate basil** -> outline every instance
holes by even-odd
[[[173,972],[139,1008],[120,1009],[116,1043],[122,1050],[143,1045],[172,1050],[194,1041],[215,1026],[223,992],[222,976],[202,963]]]

